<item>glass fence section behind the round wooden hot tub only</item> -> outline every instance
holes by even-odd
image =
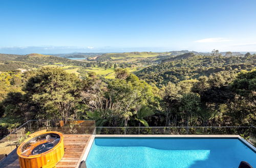
[[[93,134],[95,121],[93,120],[69,120],[69,121],[47,121],[30,120],[15,131],[0,140],[0,160],[16,149],[29,134],[44,130],[58,131],[62,134]]]

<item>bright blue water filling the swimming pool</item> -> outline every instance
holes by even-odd
[[[96,137],[87,167],[256,167],[256,153],[239,139]]]

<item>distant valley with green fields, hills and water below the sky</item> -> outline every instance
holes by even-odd
[[[223,54],[223,55],[222,55]],[[212,55],[196,51],[170,52],[124,52],[124,53],[68,53],[68,54],[0,54],[0,71],[16,69],[33,70],[40,67],[58,67],[81,78],[89,72],[98,76],[114,78],[114,70],[123,68],[136,74],[148,83],[158,87],[169,81],[197,79],[211,73],[255,68],[255,54],[245,56],[239,52],[227,55],[225,52]],[[239,55],[241,57],[239,57]],[[70,58],[70,59],[68,59]]]

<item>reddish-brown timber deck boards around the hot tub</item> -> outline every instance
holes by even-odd
[[[82,156],[86,151],[86,147],[88,146],[90,138],[91,135],[86,134],[64,134],[65,154],[63,158],[57,163],[56,167],[78,167]],[[0,162],[0,167],[20,167],[16,149]]]

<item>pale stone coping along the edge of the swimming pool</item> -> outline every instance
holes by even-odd
[[[244,138],[242,138],[240,135],[108,135],[108,134],[103,134],[103,135],[92,135],[90,142],[87,146],[86,151],[84,152],[84,155],[81,160],[86,161],[89,152],[91,150],[91,147],[93,145],[95,137],[176,137],[176,138],[232,138],[232,139],[239,139],[244,145],[246,145],[248,148],[250,148],[253,152],[256,153],[256,148],[248,143]]]

